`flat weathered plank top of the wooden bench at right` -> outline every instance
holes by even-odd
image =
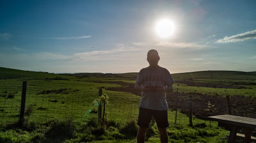
[[[233,115],[219,115],[208,117],[213,121],[218,121],[221,123],[226,123],[234,126],[242,126],[248,128],[256,128],[256,119],[250,117],[240,117]]]

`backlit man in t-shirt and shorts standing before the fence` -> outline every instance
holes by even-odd
[[[174,83],[172,75],[158,66],[160,57],[157,50],[149,50],[147,61],[149,66],[140,70],[135,83],[135,89],[141,91],[140,111],[138,117],[137,142],[145,141],[145,134],[151,118],[154,117],[160,133],[162,143],[168,142],[166,128],[168,124],[168,104],[166,93],[173,92]]]

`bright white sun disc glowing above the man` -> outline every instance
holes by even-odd
[[[156,24],[156,33],[162,38],[172,36],[174,31],[173,22],[169,19],[159,20]]]

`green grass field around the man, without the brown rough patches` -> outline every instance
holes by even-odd
[[[136,142],[135,122],[138,117],[140,96],[106,90],[122,87],[119,84],[95,81],[122,81],[134,83],[137,73],[102,74],[81,73],[61,75],[44,72],[27,72],[0,68],[0,142]],[[225,79],[224,77],[227,77]],[[175,80],[215,82],[230,85],[237,82],[243,89],[195,87],[179,84],[179,92],[256,96],[256,74],[253,72],[195,72],[173,74]],[[22,81],[28,82],[25,123],[19,120]],[[250,83],[250,85],[248,85]],[[176,83],[174,87],[177,87]],[[97,123],[99,87],[108,94],[106,124]],[[189,118],[178,111],[168,110],[168,135],[170,142],[226,142],[228,135],[217,123]],[[134,135],[135,134],[135,135]],[[147,142],[160,142],[156,123],[148,129]]]

